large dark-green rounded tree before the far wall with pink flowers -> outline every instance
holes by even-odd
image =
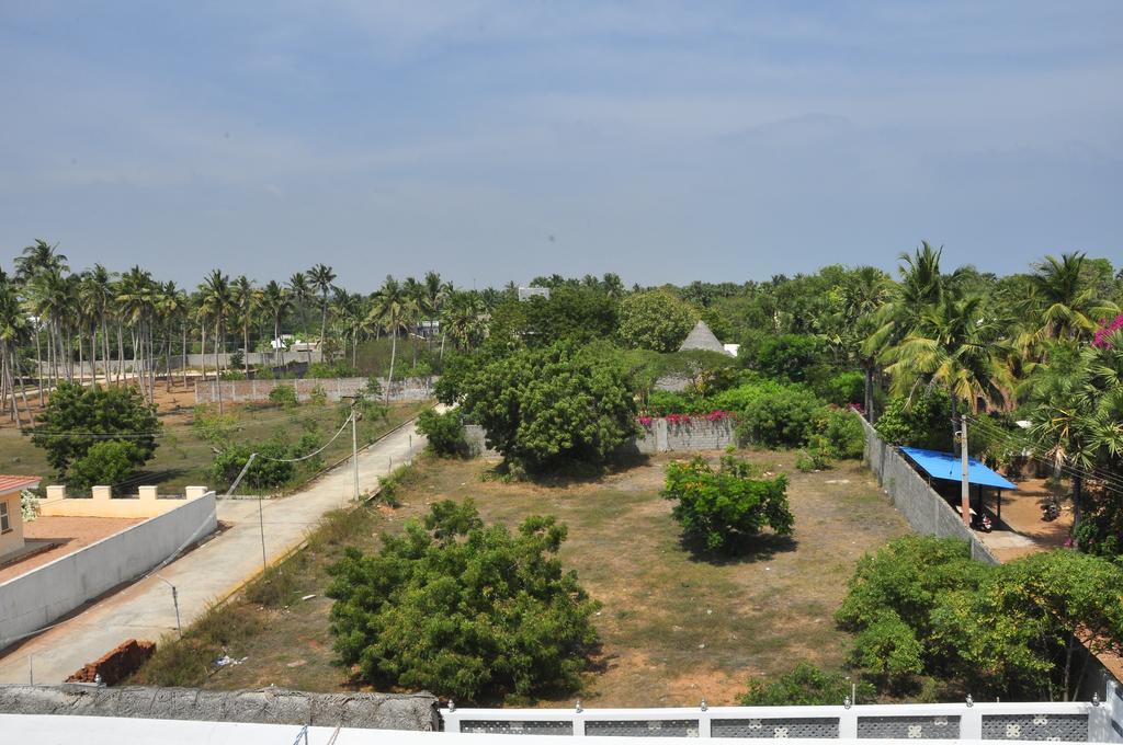
[[[513,463],[604,462],[636,431],[623,371],[566,342],[494,357],[459,380],[465,416]]]

